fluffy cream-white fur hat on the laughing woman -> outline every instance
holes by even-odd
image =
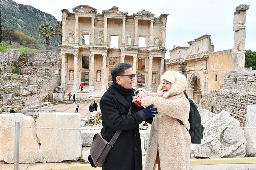
[[[186,77],[176,71],[166,71],[162,77],[161,80],[164,81],[168,81],[171,83],[171,89],[163,94],[163,90],[162,90],[162,85],[163,82],[160,83],[160,85],[158,86],[158,93],[160,93],[161,95],[163,95],[163,98],[168,98],[170,96],[174,96],[174,95],[178,95],[180,93],[183,93],[183,91],[186,88],[187,85],[187,80]]]

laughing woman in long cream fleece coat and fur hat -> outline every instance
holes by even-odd
[[[145,170],[155,170],[158,153],[161,170],[189,170],[191,137],[187,129],[190,105],[183,93],[186,77],[176,71],[166,71],[161,80],[157,93],[143,88],[135,91],[138,95],[134,101],[146,95],[142,98],[142,106],[154,104],[158,109],[148,139]]]

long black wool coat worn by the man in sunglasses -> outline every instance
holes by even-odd
[[[139,123],[146,119],[141,110],[143,107],[132,103],[132,112],[127,115],[130,104],[112,86],[102,96],[99,107],[103,120],[103,138],[109,142],[117,130],[122,130],[110,149],[102,170],[142,170]]]

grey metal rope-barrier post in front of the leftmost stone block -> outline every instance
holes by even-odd
[[[14,170],[19,170],[20,121],[15,122]]]

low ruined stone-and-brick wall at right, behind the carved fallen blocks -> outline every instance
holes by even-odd
[[[226,73],[221,89],[202,96],[199,107],[214,113],[229,111],[245,123],[246,109],[251,104],[256,104],[256,71]]]

